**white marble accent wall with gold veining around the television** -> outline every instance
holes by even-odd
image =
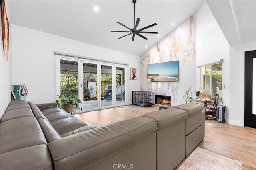
[[[147,64],[179,61],[178,82],[147,82]],[[196,89],[196,14],[193,14],[140,56],[140,88],[171,96],[171,105],[183,104]]]

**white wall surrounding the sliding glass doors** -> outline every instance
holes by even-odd
[[[35,104],[55,100],[54,51],[129,63],[129,68],[140,66],[140,57],[135,55],[12,25],[12,84],[25,83],[27,100]],[[140,80],[129,80],[128,88],[128,103],[131,103],[131,93],[140,90]]]

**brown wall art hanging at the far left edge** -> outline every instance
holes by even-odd
[[[9,21],[7,17],[7,12],[5,8],[5,1],[0,1],[1,5],[1,25],[2,25],[2,44],[3,52],[6,58],[8,59],[9,54]]]

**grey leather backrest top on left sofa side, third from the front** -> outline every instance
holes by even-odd
[[[4,113],[1,119],[1,122],[8,121],[10,119],[20,118],[20,117],[27,117],[27,116],[34,117],[31,109],[28,109],[28,108],[13,109],[13,110],[6,111]]]

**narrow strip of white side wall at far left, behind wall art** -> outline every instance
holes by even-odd
[[[10,18],[10,9],[9,9],[9,2],[6,2],[6,11],[7,11],[7,17]],[[11,21],[9,20],[9,23]],[[0,24],[1,25],[1,24]],[[0,34],[1,34],[1,47],[0,47],[0,117],[2,118],[2,115],[4,114],[6,108],[8,107],[8,104],[11,100],[11,85],[12,85],[12,31],[11,27],[9,30],[9,58],[8,60],[3,54],[3,45],[2,45],[2,27],[0,27]]]

